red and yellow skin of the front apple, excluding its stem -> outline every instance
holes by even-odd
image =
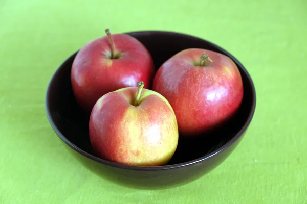
[[[143,89],[133,106],[137,87],[102,96],[89,123],[92,147],[102,159],[132,166],[161,166],[178,145],[176,116],[159,93]]]

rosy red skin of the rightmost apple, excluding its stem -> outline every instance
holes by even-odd
[[[203,54],[212,62],[199,66]],[[164,62],[152,90],[169,101],[184,137],[221,127],[237,112],[244,92],[240,72],[229,57],[199,48],[182,50]]]

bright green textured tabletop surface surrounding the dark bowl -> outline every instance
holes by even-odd
[[[306,9],[304,0],[0,0],[0,203],[307,203]],[[141,191],[69,155],[47,120],[46,88],[105,28],[192,34],[246,66],[256,113],[222,165],[182,187]]]

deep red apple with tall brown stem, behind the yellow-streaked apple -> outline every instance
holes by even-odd
[[[153,60],[140,41],[126,34],[111,35],[108,29],[106,33],[85,44],[72,65],[73,92],[88,113],[102,95],[138,81],[151,85],[155,76]]]

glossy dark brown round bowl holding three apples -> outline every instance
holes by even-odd
[[[51,126],[72,155],[101,177],[134,188],[162,189],[189,183],[220,165],[245,135],[256,107],[256,92],[244,66],[223,48],[193,36],[142,31],[127,33],[149,50],[157,69],[174,54],[186,48],[205,48],[229,56],[242,74],[244,98],[237,115],[211,139],[179,139],[178,148],[166,166],[135,167],[109,162],[97,157],[90,144],[88,123],[74,98],[70,71],[77,53],[57,69],[48,86],[46,111]],[[208,137],[206,137],[208,138]],[[102,180],[103,182],[103,180]]]

